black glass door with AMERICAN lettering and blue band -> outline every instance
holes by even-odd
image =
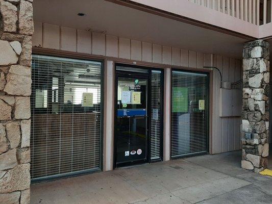
[[[147,162],[148,76],[117,74],[116,166]]]

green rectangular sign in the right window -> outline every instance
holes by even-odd
[[[172,87],[172,112],[188,112],[187,87]]]

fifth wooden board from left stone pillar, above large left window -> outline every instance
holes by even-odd
[[[92,54],[105,56],[106,39],[103,33],[92,33]]]

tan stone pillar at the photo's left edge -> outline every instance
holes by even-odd
[[[0,202],[30,203],[33,0],[0,0]]]

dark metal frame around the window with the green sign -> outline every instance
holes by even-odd
[[[205,73],[207,74],[207,89],[206,89],[206,95],[207,95],[207,104],[208,104],[208,109],[206,109],[206,114],[207,114],[207,122],[206,122],[206,138],[207,138],[207,143],[206,143],[206,151],[203,153],[192,153],[192,154],[186,154],[184,156],[174,156],[172,157],[171,151],[172,151],[172,73],[173,71],[180,71],[180,72],[188,72],[188,73]],[[170,160],[175,160],[175,159],[181,159],[181,158],[186,158],[186,157],[193,157],[193,156],[200,156],[200,155],[208,155],[209,154],[209,145],[210,145],[210,71],[197,71],[197,70],[190,70],[188,68],[175,68],[171,67],[171,88],[170,88]]]

